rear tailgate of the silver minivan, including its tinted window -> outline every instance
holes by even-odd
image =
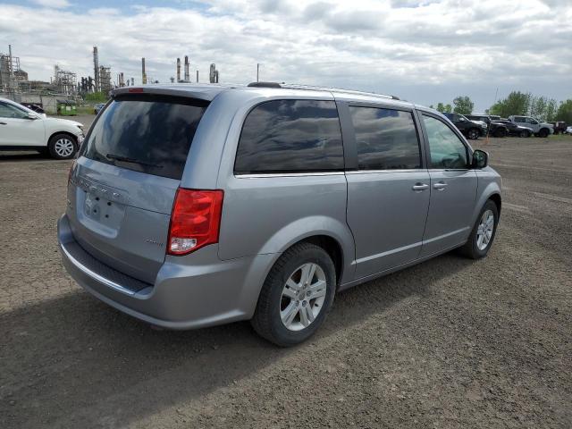
[[[84,250],[142,282],[155,281],[172,203],[206,105],[138,94],[105,107],[68,187],[71,231]]]

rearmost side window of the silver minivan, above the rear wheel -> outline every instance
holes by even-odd
[[[274,100],[248,114],[234,172],[327,172],[343,166],[333,101]]]

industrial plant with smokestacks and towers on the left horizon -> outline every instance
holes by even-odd
[[[181,77],[181,58],[176,60],[176,77],[171,82],[193,83],[198,82],[198,69],[195,79],[190,78],[189,55],[184,56]],[[115,79],[112,79],[112,76]],[[219,82],[219,71],[214,63],[209,67],[209,82]],[[145,69],[145,58],[141,58],[141,83],[159,83],[158,80],[149,78]],[[19,103],[34,104],[42,107],[47,113],[56,113],[58,103],[79,104],[86,99],[97,97],[106,98],[114,88],[122,88],[135,84],[135,78],[125,78],[122,71],[112,74],[111,67],[99,62],[99,51],[93,46],[93,76],[78,75],[74,71],[63,68],[60,64],[54,64],[54,75],[50,81],[29,80],[28,72],[21,68],[19,56],[13,55],[13,48],[8,46],[7,54],[0,52],[0,97],[13,99]],[[94,96],[94,97],[95,97]]]

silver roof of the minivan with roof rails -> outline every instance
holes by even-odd
[[[314,91],[314,92],[327,92],[333,97],[344,96],[344,97],[358,97],[358,98],[374,98],[375,100],[383,101],[393,101],[400,105],[411,105],[406,101],[400,101],[400,98],[395,96],[386,96],[383,94],[375,94],[371,92],[355,91],[351,89],[341,89],[341,88],[327,88],[327,87],[317,87],[311,85],[299,85],[290,83],[276,83],[276,82],[253,82],[248,85],[231,85],[231,84],[216,84],[216,83],[172,83],[172,84],[153,84],[153,85],[143,85],[139,87],[123,87],[116,88],[112,91],[113,96],[129,94],[129,93],[153,93],[161,94],[165,96],[182,96],[182,97],[194,97],[206,101],[212,101],[214,97],[220,93],[231,90],[240,89],[244,91],[260,92],[261,89],[268,88],[273,91],[280,90],[281,88],[287,90],[303,90],[303,91]]]

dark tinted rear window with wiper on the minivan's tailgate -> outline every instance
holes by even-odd
[[[116,97],[99,116],[82,155],[105,164],[180,180],[207,102],[184,97]]]

